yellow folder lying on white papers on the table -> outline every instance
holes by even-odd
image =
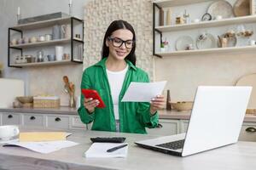
[[[31,132],[20,133],[20,142],[43,142],[54,140],[66,140],[65,132]]]

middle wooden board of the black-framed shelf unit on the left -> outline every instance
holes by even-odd
[[[22,43],[18,45],[11,45],[10,48],[29,48],[29,47],[38,47],[38,46],[46,46],[46,45],[53,45],[57,43],[67,43],[70,42],[70,38],[66,39],[58,39],[58,40],[50,40],[45,42],[33,42],[33,43]]]

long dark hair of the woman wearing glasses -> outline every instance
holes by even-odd
[[[125,59],[130,60],[133,65],[136,65],[136,55],[135,55],[136,37],[135,37],[135,31],[133,30],[133,27],[131,26],[131,24],[129,24],[125,20],[114,20],[110,24],[110,26],[108,26],[108,29],[105,33],[105,37],[104,37],[103,44],[102,44],[102,59],[108,57],[108,54],[109,54],[109,48],[106,45],[107,38],[111,36],[113,31],[117,31],[119,29],[127,29],[127,30],[131,31],[131,33],[133,34],[133,39],[132,40],[133,40],[134,43],[133,43],[133,46],[131,48],[130,54],[128,54],[125,57]]]

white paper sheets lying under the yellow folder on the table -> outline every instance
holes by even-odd
[[[50,152],[61,150],[62,148],[71,147],[77,145],[78,143],[68,141],[68,140],[57,140],[57,141],[49,141],[49,142],[8,142],[4,144],[4,146],[20,146],[26,148],[28,150],[33,150],[39,153],[48,154]]]

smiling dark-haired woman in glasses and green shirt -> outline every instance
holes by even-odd
[[[81,95],[79,116],[84,123],[93,122],[92,130],[122,133],[147,133],[156,127],[157,110],[165,104],[162,95],[148,102],[121,102],[131,82],[149,82],[148,74],[136,65],[136,36],[125,20],[114,20],[106,31],[102,60],[85,69],[81,88],[95,89],[106,107],[97,108],[97,99]]]

